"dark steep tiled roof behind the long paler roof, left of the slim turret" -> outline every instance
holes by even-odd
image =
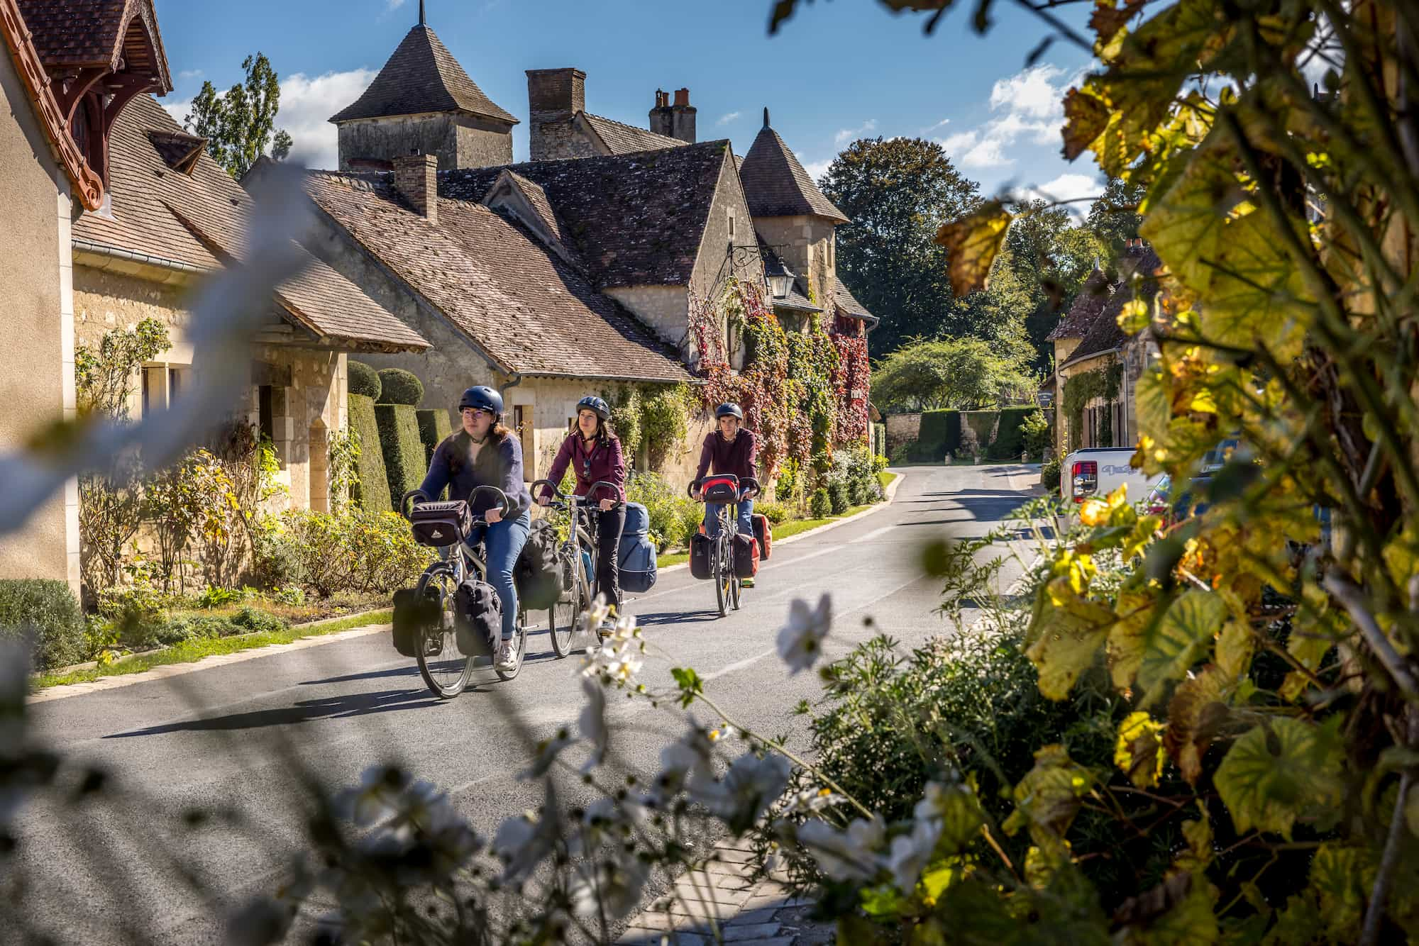
[[[512,165],[546,193],[597,288],[690,285],[729,142]],[[480,201],[504,167],[438,174],[438,194]],[[441,213],[441,210],[440,210]]]

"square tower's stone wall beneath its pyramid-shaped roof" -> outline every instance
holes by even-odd
[[[392,162],[413,153],[437,155],[438,170],[511,165],[512,129],[502,122],[451,112],[339,125],[341,170],[350,170],[356,160]]]

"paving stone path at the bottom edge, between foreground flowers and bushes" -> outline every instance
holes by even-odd
[[[722,841],[701,869],[675,881],[650,909],[630,922],[620,943],[633,946],[823,946],[829,923],[812,922],[812,905],[789,896],[779,877],[752,879],[748,841]]]

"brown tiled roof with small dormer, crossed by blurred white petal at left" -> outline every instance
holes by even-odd
[[[173,170],[153,133],[172,140],[182,129],[150,95],[139,95],[119,112],[109,139],[112,217],[84,214],[74,221],[74,237],[197,269],[241,258],[247,191],[206,150],[190,174]],[[292,321],[356,347],[429,347],[349,279],[299,247],[297,252],[305,268],[275,291]]]

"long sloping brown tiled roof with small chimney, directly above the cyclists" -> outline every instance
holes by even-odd
[[[525,227],[477,200],[448,197],[438,200],[431,224],[404,206],[390,179],[312,172],[307,190],[504,369],[607,380],[690,377],[667,346]]]

